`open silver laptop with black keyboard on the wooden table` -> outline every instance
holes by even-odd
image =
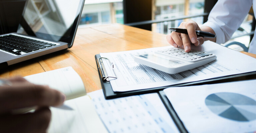
[[[84,1],[26,0],[17,32],[0,35],[0,67],[71,48]]]

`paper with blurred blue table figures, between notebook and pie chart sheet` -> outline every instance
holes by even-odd
[[[102,90],[88,93],[110,133],[178,133],[157,93],[105,100]]]

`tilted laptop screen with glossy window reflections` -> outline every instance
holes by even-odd
[[[18,33],[72,46],[84,0],[27,0]]]

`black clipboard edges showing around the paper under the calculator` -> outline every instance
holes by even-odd
[[[163,87],[125,91],[125,92],[114,92],[112,90],[110,82],[103,80],[103,78],[106,78],[106,76],[103,76],[104,73],[102,73],[100,63],[98,62],[98,59],[100,59],[100,58],[101,57],[99,54],[95,55],[95,60],[96,60],[96,64],[97,64],[97,68],[98,68],[98,72],[99,72],[99,78],[100,78],[100,82],[101,82],[101,86],[102,86],[102,90],[103,90],[105,99],[113,99],[113,98],[124,97],[124,96],[153,93],[153,92],[161,91],[168,87],[203,85],[203,84],[214,84],[214,83],[256,79],[256,71],[253,71],[253,72],[234,74],[234,75],[228,75],[228,76],[223,76],[223,77],[217,77],[217,78],[211,78],[211,79],[206,79],[206,80],[201,80],[201,81],[187,82],[187,83],[181,83],[181,84],[175,84],[175,85],[169,85],[169,86],[163,86]]]

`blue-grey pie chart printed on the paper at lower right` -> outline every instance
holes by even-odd
[[[256,101],[231,92],[213,93],[206,97],[206,106],[215,114],[234,121],[256,120]]]

